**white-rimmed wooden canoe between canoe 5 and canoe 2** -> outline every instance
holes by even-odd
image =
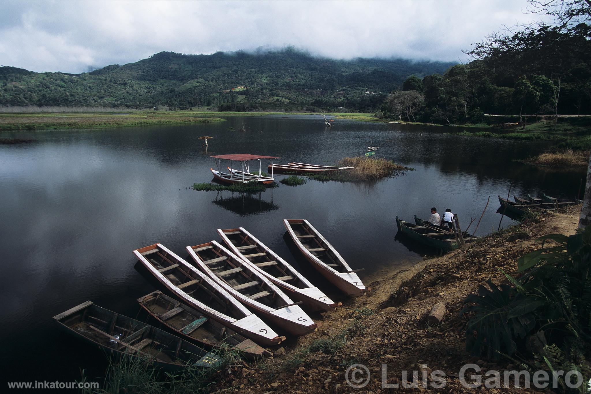
[[[340,302],[332,301],[322,290],[311,284],[304,275],[301,275],[243,227],[228,230],[217,229],[217,233],[236,256],[264,273],[271,282],[280,286],[291,299],[302,301],[306,310],[330,311],[340,305]]]

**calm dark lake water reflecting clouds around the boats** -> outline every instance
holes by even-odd
[[[245,124],[251,131],[229,131]],[[527,158],[546,142],[466,138],[457,128],[337,120],[320,116],[229,118],[189,126],[3,133],[36,138],[0,146],[0,340],[7,380],[79,379],[105,368],[103,355],[61,334],[51,317],[86,300],[129,315],[135,301],[163,289],[136,265],[131,251],[161,242],[184,247],[218,239],[216,229],[243,226],[327,293],[335,289],[310,272],[284,238],[282,219],[308,219],[353,269],[365,268],[366,285],[430,253],[395,239],[395,216],[428,219],[429,209],[451,208],[463,227],[491,203],[477,235],[498,226],[497,195],[573,197],[580,172],[538,170]],[[209,135],[209,147],[200,136]],[[332,164],[360,155],[373,139],[377,157],[415,168],[376,183],[280,185],[241,196],[196,192],[212,180],[210,155],[275,155],[275,162]],[[251,168],[252,169],[252,168]],[[279,175],[277,178],[281,178]],[[503,225],[512,221],[504,219]],[[473,230],[475,224],[472,225]],[[154,324],[154,321],[151,321]]]

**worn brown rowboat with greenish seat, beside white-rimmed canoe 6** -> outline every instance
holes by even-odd
[[[273,355],[231,328],[217,323],[159,290],[138,298],[138,302],[152,317],[174,330],[178,336],[197,341],[200,346],[218,350],[238,350],[249,359]]]

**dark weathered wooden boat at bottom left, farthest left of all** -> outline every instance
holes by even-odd
[[[91,301],[53,317],[67,333],[115,354],[134,354],[170,370],[215,368],[222,358],[149,324],[101,308]]]

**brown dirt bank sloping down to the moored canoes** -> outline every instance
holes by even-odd
[[[517,259],[534,248],[537,237],[549,233],[570,235],[577,227],[580,206],[548,214],[540,223],[510,227],[464,249],[418,263],[371,284],[367,297],[352,299],[336,311],[317,318],[319,330],[299,338],[285,354],[258,364],[239,364],[221,372],[213,390],[264,392],[382,392],[382,363],[387,383],[402,388],[401,371],[418,371],[414,391],[474,392],[460,385],[459,370],[466,363],[486,370],[519,369],[511,362],[487,363],[465,351],[463,300],[479,284],[492,278],[506,282],[499,268],[517,272]],[[429,325],[433,305],[445,302],[441,324]],[[281,351],[280,351],[281,353]],[[345,372],[351,364],[368,367],[372,379],[360,390],[350,388]],[[443,370],[446,385],[421,387],[421,369]],[[362,377],[360,373],[358,377]],[[364,376],[363,376],[364,377]],[[408,380],[412,380],[408,376]],[[487,392],[530,392],[527,389],[485,389]],[[388,390],[387,390],[388,391]]]

